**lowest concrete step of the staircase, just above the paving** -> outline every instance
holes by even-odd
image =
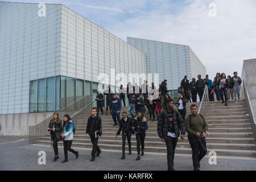
[[[50,141],[44,141],[44,140],[39,140],[38,142],[36,142],[37,144],[51,144]],[[59,145],[63,145],[62,142],[59,142]],[[98,143],[98,146],[101,149],[108,149],[108,150],[121,150],[122,146],[120,144],[102,144],[102,143]],[[86,143],[76,143],[73,142],[72,143],[72,147],[86,147],[86,148],[92,148],[92,143],[86,142]],[[128,146],[126,145],[126,148],[128,148]],[[131,146],[131,150],[133,151],[133,153],[136,153],[137,151],[137,146],[136,145],[132,145]],[[144,151],[145,152],[162,152],[162,153],[166,153],[166,146],[163,147],[153,147],[153,146],[145,146],[144,147]],[[226,150],[226,149],[216,149],[216,148],[209,148],[207,150],[207,152],[209,151],[215,151],[217,153],[217,155],[219,156],[246,156],[246,157],[256,157],[256,151],[255,150]],[[176,147],[175,150],[176,154],[192,154],[192,150],[191,148],[179,148]],[[146,153],[145,153],[146,154]],[[104,155],[104,152],[102,152],[101,155]]]

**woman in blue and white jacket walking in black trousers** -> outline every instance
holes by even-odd
[[[79,152],[75,151],[71,148],[72,146],[72,142],[73,142],[73,138],[74,138],[74,133],[73,133],[73,129],[74,129],[74,123],[71,120],[71,118],[69,117],[68,114],[64,115],[64,122],[63,122],[63,135],[61,136],[63,138],[63,146],[64,146],[64,155],[65,155],[65,160],[63,160],[63,162],[61,163],[65,163],[68,162],[68,151],[72,152],[73,154],[76,155],[76,159],[79,156]]]

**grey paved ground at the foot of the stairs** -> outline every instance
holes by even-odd
[[[17,141],[18,142],[15,142]],[[120,146],[121,148],[121,146]],[[59,147],[60,159],[53,163],[53,148],[50,146],[28,145],[27,137],[0,137],[0,170],[108,170],[108,171],[166,171],[166,154],[147,153],[141,160],[135,160],[136,152],[121,159],[121,151],[102,150],[100,157],[90,162],[91,150],[74,148],[79,151],[79,159],[69,152],[69,162],[61,164],[64,159],[63,147]],[[39,151],[46,152],[46,165],[39,165]],[[216,165],[208,163],[208,157],[201,161],[201,170],[207,171],[256,171],[256,158],[217,158]],[[191,155],[175,155],[176,170],[193,169]]]

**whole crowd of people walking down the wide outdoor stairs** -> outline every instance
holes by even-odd
[[[241,78],[237,76],[237,72],[234,72],[234,76],[228,76],[226,78],[225,73],[217,73],[214,81],[210,80],[208,75],[205,79],[201,79],[199,75],[198,80],[192,78],[192,81],[187,80],[187,76],[181,81],[179,88],[179,96],[177,101],[170,97],[167,90],[167,80],[164,80],[159,85],[159,89],[156,89],[154,83],[151,86],[147,85],[147,81],[140,88],[137,84],[134,86],[127,84],[127,90],[121,85],[119,89],[119,98],[116,93],[111,92],[108,87],[104,95],[106,96],[106,115],[108,115],[108,107],[110,114],[112,115],[114,125],[119,126],[115,137],[118,137],[122,131],[122,157],[125,159],[125,142],[126,138],[129,145],[129,155],[131,155],[131,135],[135,134],[137,140],[137,158],[140,160],[144,155],[144,140],[146,137],[146,130],[148,129],[148,123],[146,115],[146,107],[151,121],[155,121],[155,114],[157,117],[157,133],[160,140],[166,143],[167,147],[167,164],[168,170],[174,171],[174,154],[177,144],[177,139],[185,140],[185,133],[188,133],[188,141],[192,148],[192,160],[193,167],[196,171],[200,170],[200,160],[207,154],[207,143],[205,137],[209,135],[208,124],[203,115],[197,114],[197,106],[192,104],[191,114],[187,117],[186,103],[188,101],[196,102],[197,94],[199,94],[200,101],[203,98],[205,85],[208,86],[209,100],[214,101],[213,94],[216,94],[217,101],[222,100],[227,105],[228,100],[237,102],[240,99],[240,85]],[[157,93],[157,94],[156,94]],[[234,93],[234,96],[233,96]],[[122,112],[122,118],[120,119],[120,113],[125,103],[125,94],[129,98],[129,107],[127,115],[126,111]],[[96,156],[100,156],[101,150],[98,146],[98,139],[102,135],[101,114],[103,113],[102,107],[104,106],[104,95],[98,92],[96,97],[97,107],[92,108],[92,115],[89,116],[85,135],[90,137],[92,142],[92,159],[93,162]],[[176,106],[176,109],[175,109]],[[153,118],[152,118],[153,117]],[[64,122],[62,124],[58,113],[53,114],[53,119],[49,123],[47,128],[51,134],[51,140],[53,141],[53,150],[55,152],[56,162],[59,159],[59,153],[57,148],[57,142],[63,140],[64,142],[64,156],[65,159],[61,163],[68,162],[68,151],[75,154],[76,158],[79,157],[79,152],[71,148],[73,136],[75,134],[74,123],[69,115],[64,115]]]

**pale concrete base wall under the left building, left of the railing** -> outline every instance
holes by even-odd
[[[36,125],[52,114],[53,112],[0,114],[0,135],[28,135],[28,126]]]

